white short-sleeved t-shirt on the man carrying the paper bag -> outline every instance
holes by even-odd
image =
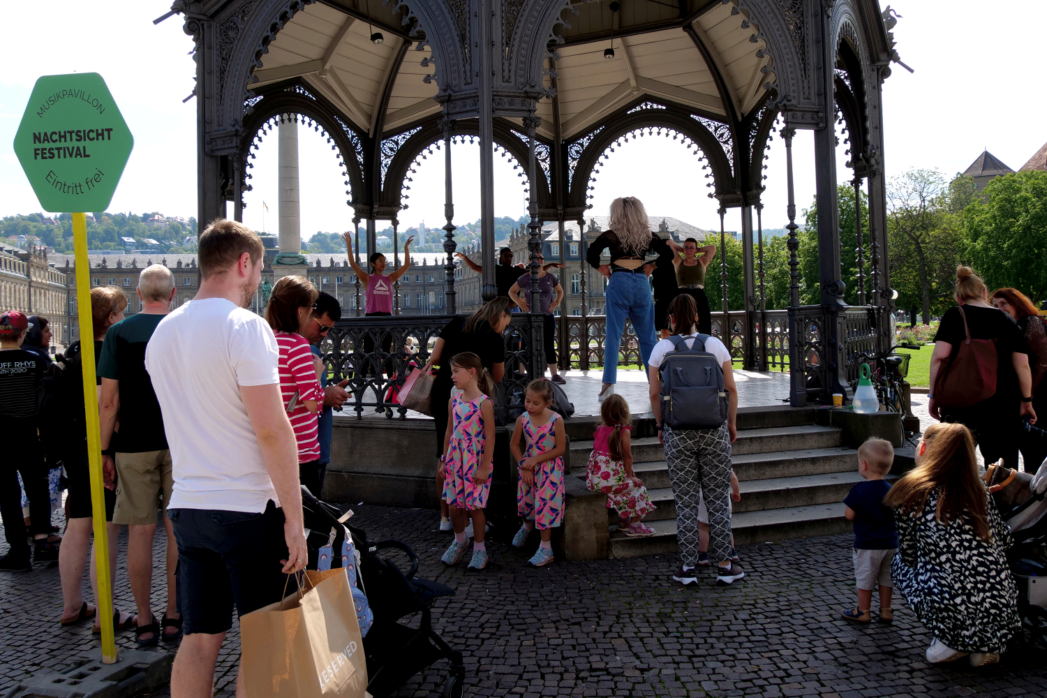
[[[171,448],[171,509],[280,504],[240,397],[241,385],[279,384],[279,361],[269,324],[225,298],[191,300],[156,327],[146,369]]]

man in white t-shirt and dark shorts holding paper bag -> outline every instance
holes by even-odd
[[[174,475],[168,515],[184,637],[173,698],[211,694],[233,606],[243,615],[280,601],[286,576],[309,558],[276,339],[246,310],[263,253],[246,226],[211,223],[198,246],[199,293],[160,321],[146,350]]]

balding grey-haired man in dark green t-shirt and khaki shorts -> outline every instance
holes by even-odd
[[[178,546],[166,512],[168,603],[160,621],[150,610],[153,585],[153,538],[156,513],[171,500],[171,451],[163,431],[163,416],[146,371],[146,347],[160,320],[171,312],[175,297],[175,277],[160,264],[146,267],[135,290],[141,311],[113,324],[106,331],[106,341],[98,357],[102,398],[98,402],[102,428],[102,467],[106,483],[116,482],[116,508],[113,523],[128,526],[128,581],[138,606],[139,647],[151,647],[163,636],[181,635],[175,592],[175,566]],[[115,431],[117,418],[119,431]]]

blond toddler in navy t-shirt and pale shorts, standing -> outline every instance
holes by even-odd
[[[894,464],[891,442],[870,438],[857,449],[857,472],[865,478],[844,499],[844,516],[854,522],[854,579],[857,585],[857,608],[841,611],[840,615],[854,623],[872,621],[872,590],[879,587],[879,620],[894,620],[891,610],[891,560],[898,548],[894,528],[894,512],[884,503],[891,485],[884,475]]]

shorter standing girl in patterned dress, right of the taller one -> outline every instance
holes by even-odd
[[[513,536],[513,546],[524,547],[531,532],[538,527],[541,543],[528,562],[535,567],[553,561],[553,528],[563,523],[563,451],[566,436],[563,420],[550,409],[553,385],[545,379],[531,381],[524,399],[526,412],[516,418],[509,450],[519,464],[516,485],[516,511],[524,525]],[[527,450],[520,453],[520,435]]]

